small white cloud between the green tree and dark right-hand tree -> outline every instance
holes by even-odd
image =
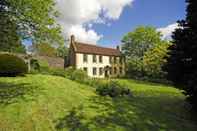
[[[173,23],[173,24],[170,24],[166,27],[162,27],[162,28],[158,28],[157,31],[161,32],[162,35],[163,35],[163,39],[167,39],[167,40],[170,40],[171,39],[171,36],[172,36],[172,33],[175,31],[175,29],[178,28],[178,23]]]

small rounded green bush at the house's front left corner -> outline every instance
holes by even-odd
[[[83,70],[74,70],[74,72],[71,73],[71,80],[75,80],[77,82],[86,83],[86,80],[88,78],[88,75]]]

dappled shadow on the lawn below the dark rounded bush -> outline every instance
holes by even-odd
[[[0,82],[0,105],[9,105],[19,100],[34,100],[37,96],[38,87],[29,83],[6,83]]]

